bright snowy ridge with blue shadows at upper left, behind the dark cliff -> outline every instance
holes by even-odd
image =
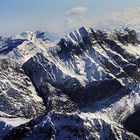
[[[0,57],[23,64],[36,53],[46,52],[55,44],[44,32],[23,32],[0,41]]]

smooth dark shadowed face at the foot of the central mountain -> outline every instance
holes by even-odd
[[[90,83],[89,86],[77,88],[76,90],[64,89],[63,91],[65,94],[68,94],[74,102],[80,106],[85,106],[86,104],[101,100],[123,89],[124,87],[116,79],[112,79]]]

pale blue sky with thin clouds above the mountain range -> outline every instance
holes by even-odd
[[[124,15],[124,12],[136,14],[135,7],[139,6],[140,0],[1,0],[0,35],[17,34],[25,30],[62,33],[82,25],[102,27],[106,19],[111,19],[111,24],[114,22],[112,19],[119,19],[120,11]],[[113,11],[115,18],[112,18]]]

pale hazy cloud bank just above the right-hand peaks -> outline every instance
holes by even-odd
[[[72,8],[75,9],[75,8]],[[140,30],[140,7],[127,8],[122,11],[109,11],[97,16],[91,16],[87,11],[70,12],[65,16],[65,29],[73,30],[81,26],[88,26],[94,29],[122,29],[132,27]],[[75,10],[74,10],[75,11]],[[76,14],[77,13],[77,14]]]

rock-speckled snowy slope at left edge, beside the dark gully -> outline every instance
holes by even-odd
[[[27,118],[45,111],[30,79],[17,63],[8,59],[0,60],[0,111],[5,113],[1,116]]]

